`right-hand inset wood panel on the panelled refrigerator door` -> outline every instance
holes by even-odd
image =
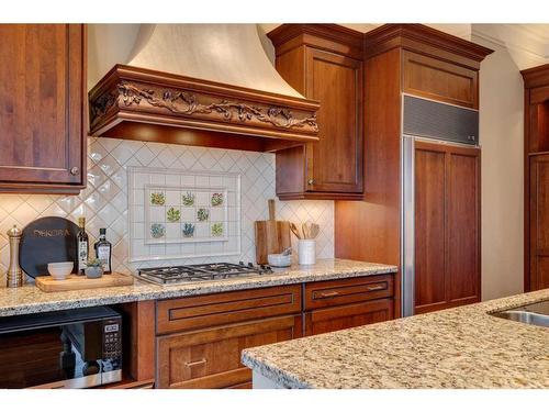
[[[448,154],[448,299],[480,300],[479,151]]]

